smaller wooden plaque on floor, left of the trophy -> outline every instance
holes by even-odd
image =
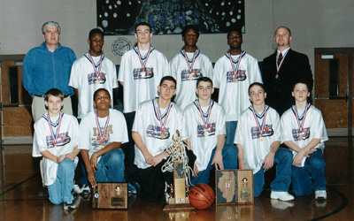
[[[97,183],[93,193],[93,209],[127,209],[127,183]]]

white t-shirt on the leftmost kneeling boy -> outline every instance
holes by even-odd
[[[35,121],[35,135],[32,156],[42,156],[41,152],[48,150],[52,155],[60,156],[73,152],[79,144],[79,124],[77,119],[71,115],[60,112],[59,118],[50,118],[48,113]],[[55,120],[56,122],[53,122]],[[50,131],[52,133],[50,133]],[[58,134],[58,135],[57,135]],[[56,145],[54,137],[57,137]],[[58,164],[43,157],[44,185],[50,186],[57,179]]]

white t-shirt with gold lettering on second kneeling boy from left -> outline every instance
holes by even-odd
[[[97,123],[99,124],[98,126]],[[98,127],[101,130],[98,130]],[[101,139],[100,133],[102,133],[104,139]],[[97,122],[96,110],[89,112],[81,119],[79,149],[88,149],[90,158],[93,153],[104,149],[112,142],[126,143],[127,141],[126,119],[118,110],[110,109],[109,120],[108,117],[98,118]],[[100,159],[101,157],[97,160],[99,161]]]

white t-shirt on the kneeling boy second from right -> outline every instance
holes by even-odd
[[[273,141],[281,141],[281,121],[276,110],[266,105],[262,113],[252,112],[250,106],[244,110],[237,123],[235,144],[243,146],[243,161],[247,169],[252,169],[253,174],[258,172],[266,155],[271,151]],[[264,119],[266,118],[266,123]],[[261,135],[258,128],[263,133]]]

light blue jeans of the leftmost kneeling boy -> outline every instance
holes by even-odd
[[[61,202],[73,201],[73,176],[75,175],[75,163],[65,158],[58,165],[57,179],[48,186],[50,202],[60,204]]]

